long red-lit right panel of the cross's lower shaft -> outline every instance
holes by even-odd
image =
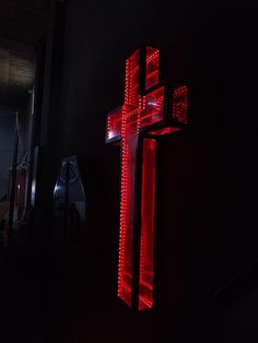
[[[143,140],[139,310],[153,306],[156,141]]]

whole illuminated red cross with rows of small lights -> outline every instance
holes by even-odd
[[[188,88],[161,85],[160,58],[157,49],[145,47],[127,59],[125,103],[107,116],[106,142],[121,141],[118,296],[133,306],[137,280],[133,298],[139,310],[153,307],[155,139],[187,122]],[[133,239],[138,236],[139,275],[134,277]]]

